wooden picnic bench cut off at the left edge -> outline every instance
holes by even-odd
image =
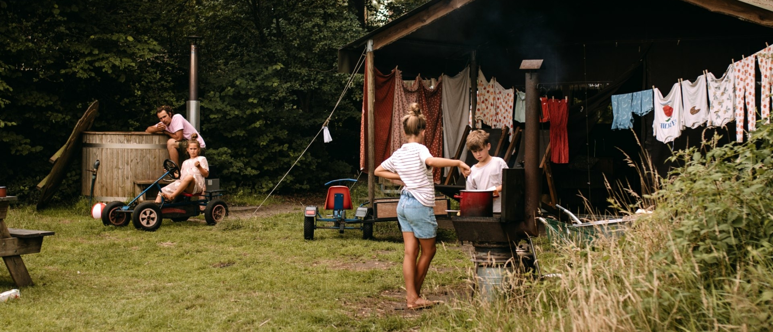
[[[5,225],[4,219],[8,213],[10,202],[15,200],[15,196],[0,197],[0,257],[5,261],[5,267],[11,273],[11,278],[16,286],[31,286],[32,278],[29,277],[29,271],[24,265],[22,255],[40,252],[40,246],[43,246],[43,237],[53,235],[54,232],[9,229]]]

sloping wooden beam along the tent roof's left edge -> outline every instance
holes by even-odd
[[[383,46],[387,46],[397,39],[410,35],[411,32],[428,25],[473,1],[475,0],[445,0],[431,5],[424,11],[418,12],[416,15],[410,16],[403,22],[400,22],[400,24],[393,25],[383,32],[376,34],[376,36],[373,36],[373,50],[381,49]]]

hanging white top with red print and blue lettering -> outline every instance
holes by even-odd
[[[679,89],[679,82],[671,86],[671,92],[665,98],[658,88],[653,88],[652,99],[655,100],[652,131],[658,141],[672,142],[682,134],[682,89]]]

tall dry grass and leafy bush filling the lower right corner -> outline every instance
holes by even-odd
[[[661,189],[613,192],[610,203],[624,215],[649,205],[654,213],[620,238],[540,246],[538,256],[556,257],[543,273],[560,278],[519,276],[502,300],[455,303],[448,330],[773,330],[773,130],[758,127],[747,144],[716,141],[676,153],[682,166],[669,178],[642,154],[632,166]]]

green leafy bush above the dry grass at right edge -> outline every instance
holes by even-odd
[[[773,253],[773,128],[758,127],[746,144],[717,140],[679,151],[673,160],[683,166],[658,196],[680,220],[676,246],[690,249],[703,273],[727,277]]]

